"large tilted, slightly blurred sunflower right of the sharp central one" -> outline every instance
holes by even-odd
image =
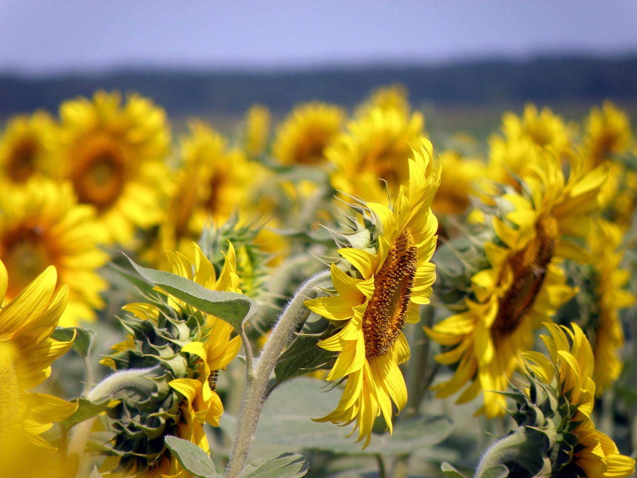
[[[571,157],[566,181],[557,154],[546,151],[542,158],[541,167],[525,178],[528,194],[512,192],[501,199],[503,217],[492,220],[497,240],[484,245],[490,267],[471,277],[473,298],[466,300],[466,310],[426,329],[447,347],[436,359],[459,363],[452,379],[434,387],[437,396],[468,385],[458,399],[466,402],[482,390],[480,411],[487,417],[503,414],[505,396],[498,392],[508,387],[517,353],[533,346],[533,330],[573,296],[562,259],[590,261],[569,238],[587,235],[605,170],[584,174],[581,159]]]

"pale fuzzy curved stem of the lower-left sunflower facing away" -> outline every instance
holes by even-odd
[[[113,373],[97,384],[86,394],[87,400],[100,400],[108,396],[113,396],[118,391],[133,389],[140,391],[144,395],[150,395],[155,391],[155,384],[148,377],[152,376],[155,370],[161,367],[152,368],[131,368]],[[90,430],[93,428],[95,417],[76,424],[71,432],[71,439],[68,445],[68,467],[75,467],[77,471],[82,463],[82,456],[87,442],[89,441]]]

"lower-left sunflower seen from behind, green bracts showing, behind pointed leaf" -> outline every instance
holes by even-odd
[[[241,293],[232,244],[218,276],[201,249],[192,246],[194,261],[180,252],[167,253],[170,272],[211,290]],[[142,400],[126,395],[105,418],[116,436],[111,440],[115,456],[104,462],[104,476],[190,477],[166,449],[164,437],[189,440],[210,453],[203,424],[219,424],[224,408],[216,391],[218,372],[239,352],[240,337],[231,339],[229,324],[171,296],[166,303],[132,303],[124,310],[134,315],[122,320],[129,338],[101,363],[118,371],[154,367],[147,374],[154,390]]]

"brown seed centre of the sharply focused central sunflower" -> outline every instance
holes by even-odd
[[[362,317],[365,357],[385,355],[403,330],[418,268],[412,231],[405,229],[389,249],[374,279],[374,293]]]

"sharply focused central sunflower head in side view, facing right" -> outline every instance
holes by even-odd
[[[339,329],[318,344],[339,352],[327,380],[347,377],[338,407],[318,421],[355,422],[352,433],[359,429],[357,441],[365,439],[364,446],[375,418],[382,414],[391,433],[392,402],[399,411],[406,403],[398,368],[410,354],[403,327],[419,321],[419,306],[429,303],[435,279],[429,259],[438,221],[430,206],[440,170],[433,168],[431,143],[423,139],[422,145],[409,161],[409,187],[401,187],[393,208],[365,203],[375,237],[364,249],[339,250],[344,260],[331,266],[334,294],[305,302]]]

